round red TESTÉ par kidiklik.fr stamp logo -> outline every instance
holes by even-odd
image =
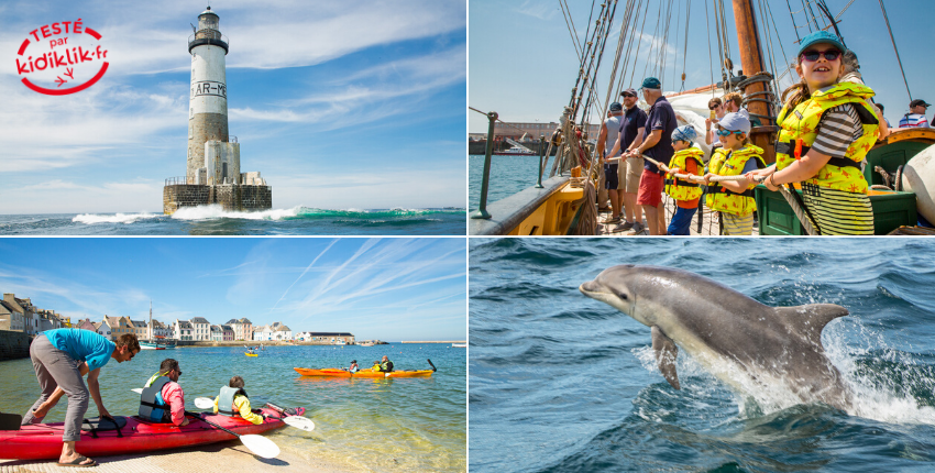
[[[23,85],[40,94],[66,96],[85,90],[100,80],[110,65],[100,38],[80,18],[37,28],[20,45],[16,74],[23,76]]]

